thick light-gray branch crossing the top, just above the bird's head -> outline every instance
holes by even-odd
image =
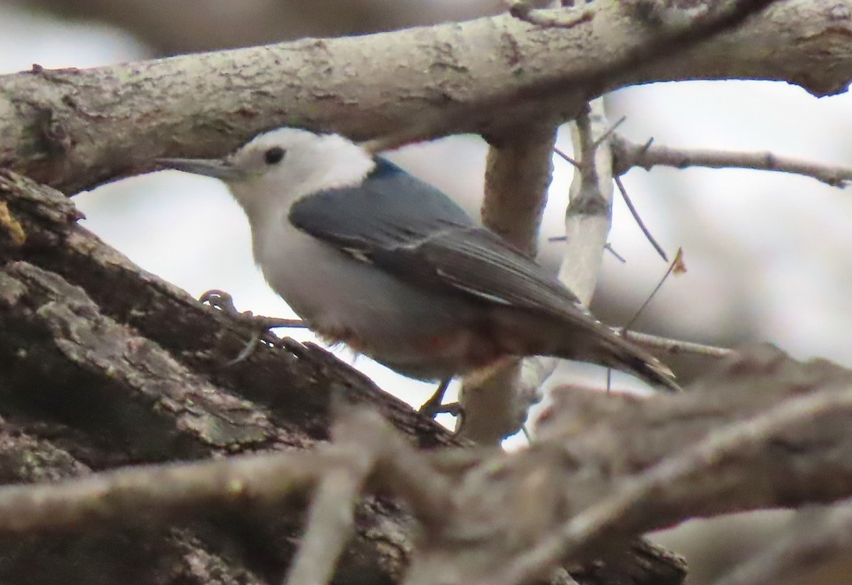
[[[660,34],[619,2],[569,29],[505,15],[83,71],[34,67],[0,77],[0,166],[77,192],[151,169],[156,157],[221,156],[280,125],[403,141],[489,134],[674,79],[779,79],[825,95],[849,81],[848,45],[835,39],[852,32],[838,17],[850,12],[843,2],[777,3],[700,49],[610,75]]]

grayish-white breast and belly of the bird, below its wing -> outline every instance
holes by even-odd
[[[285,216],[253,226],[253,238],[268,284],[312,329],[394,369],[423,360],[422,348],[414,346],[457,331],[459,317],[469,314],[464,301],[436,298],[358,261],[293,227]],[[412,364],[411,371],[419,373],[420,366]]]

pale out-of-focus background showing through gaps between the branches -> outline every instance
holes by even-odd
[[[340,36],[497,14],[499,0],[0,0],[0,73],[89,67],[167,54]],[[668,146],[771,150],[824,163],[852,164],[852,99],[816,99],[786,83],[659,83],[608,96],[610,118],[634,141]],[[571,151],[570,134],[559,146]],[[486,145],[456,136],[390,155],[457,198],[473,215],[482,193]],[[554,159],[539,260],[554,270],[573,169]],[[688,272],[671,278],[636,329],[734,346],[772,341],[796,358],[822,356],[852,366],[852,195],[818,181],[750,170],[631,170],[624,177],[643,220]],[[217,181],[167,171],[84,192],[83,225],[150,272],[192,295],[223,289],[240,310],[291,316],[251,260],[242,212]],[[594,312],[622,324],[665,272],[617,200],[610,242],[626,263],[605,255]],[[289,332],[308,340],[308,332]],[[337,352],[353,360],[346,350]],[[396,376],[366,358],[355,365],[412,404],[430,385]],[[682,376],[706,367],[676,364]],[[589,376],[600,376],[593,372]],[[601,380],[603,378],[601,377]],[[709,478],[708,480],[711,480]],[[685,554],[689,582],[719,571],[769,542],[791,513],[693,521],[658,535]],[[850,555],[852,556],[852,555]],[[848,583],[839,563],[805,581]],[[795,582],[795,581],[792,581]]]

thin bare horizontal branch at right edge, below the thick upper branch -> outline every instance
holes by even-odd
[[[794,175],[813,177],[826,185],[844,187],[852,181],[852,167],[815,163],[799,158],[781,157],[772,152],[735,152],[707,148],[672,148],[636,144],[623,136],[613,137],[618,174],[623,175],[633,167],[650,170],[655,165],[685,169],[708,167],[711,169],[774,170]]]

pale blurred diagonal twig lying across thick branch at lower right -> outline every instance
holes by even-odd
[[[528,582],[549,567],[568,559],[582,558],[590,553],[607,534],[615,531],[641,533],[649,509],[673,507],[671,498],[679,504],[689,501],[690,494],[671,490],[671,486],[698,473],[709,473],[726,457],[759,450],[763,442],[772,439],[784,427],[807,422],[826,410],[852,407],[852,391],[826,389],[800,398],[788,399],[771,410],[734,422],[711,433],[706,439],[650,467],[631,481],[625,481],[612,496],[608,496],[577,514],[552,531],[538,544],[521,553],[507,565],[495,567],[492,575],[474,585],[517,585]],[[726,485],[720,482],[719,490]],[[701,497],[708,497],[702,494]],[[643,520],[644,519],[644,520]]]

